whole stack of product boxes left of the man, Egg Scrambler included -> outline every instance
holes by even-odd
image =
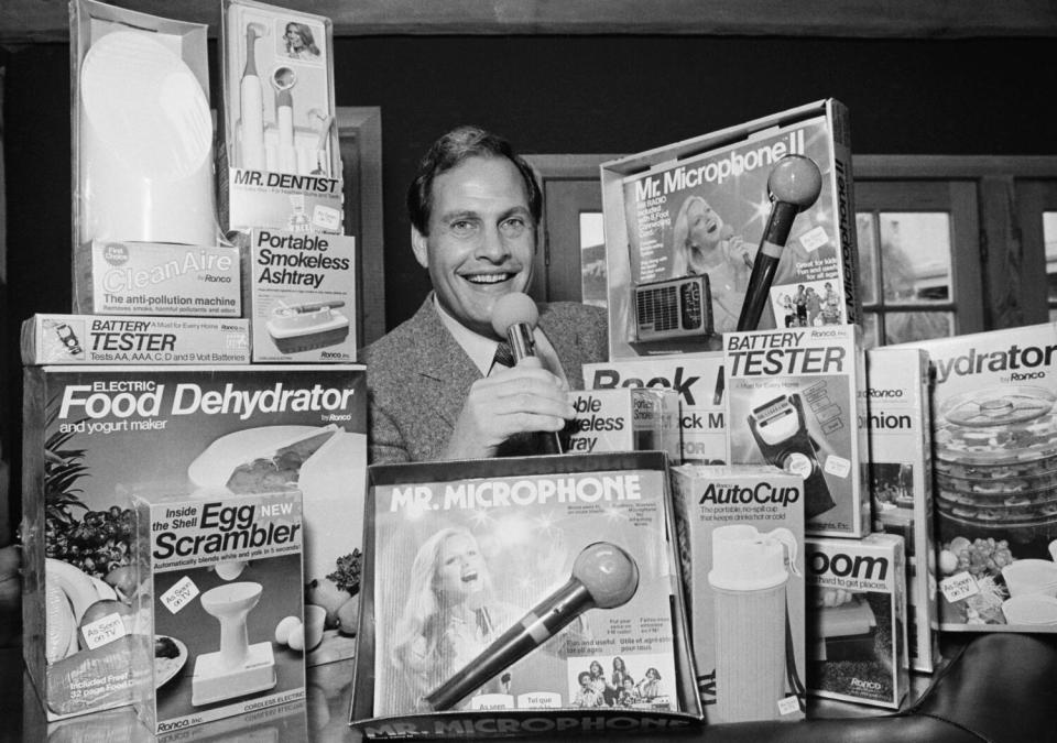
[[[367,463],[363,369],[319,363],[357,345],[330,23],[224,6],[235,244],[207,28],[78,0],[70,39],[74,314],[22,334],[30,676],[50,720],[159,731],[303,699],[355,652]]]

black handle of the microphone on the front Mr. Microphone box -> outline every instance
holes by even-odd
[[[451,709],[460,699],[545,643],[593,603],[584,583],[569,580],[533,607],[465,668],[426,695],[426,702],[437,711]]]

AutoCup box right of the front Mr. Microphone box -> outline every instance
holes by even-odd
[[[804,718],[804,480],[672,470],[697,689],[709,723]]]

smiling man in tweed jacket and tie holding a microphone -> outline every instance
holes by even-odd
[[[370,459],[421,461],[526,454],[531,431],[574,416],[581,365],[607,358],[606,314],[540,307],[536,359],[494,361],[495,301],[532,280],[542,196],[510,143],[475,127],[437,140],[407,194],[415,259],[433,292],[418,312],[364,349]],[[509,362],[508,362],[509,363]]]

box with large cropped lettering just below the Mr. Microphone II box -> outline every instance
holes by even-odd
[[[683,461],[702,465],[727,461],[721,352],[587,363],[584,381],[592,390],[656,387],[677,392]]]

